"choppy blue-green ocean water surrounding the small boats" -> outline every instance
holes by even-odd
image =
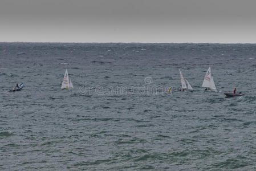
[[[255,62],[256,44],[0,43],[0,169],[255,170]]]

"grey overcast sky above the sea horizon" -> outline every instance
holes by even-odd
[[[0,42],[256,43],[255,0],[0,0]]]

